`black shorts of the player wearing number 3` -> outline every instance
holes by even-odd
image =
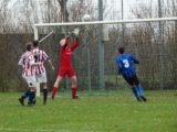
[[[136,75],[133,77],[127,77],[127,76],[123,75],[123,77],[131,86],[138,86],[139,85],[139,80]]]

